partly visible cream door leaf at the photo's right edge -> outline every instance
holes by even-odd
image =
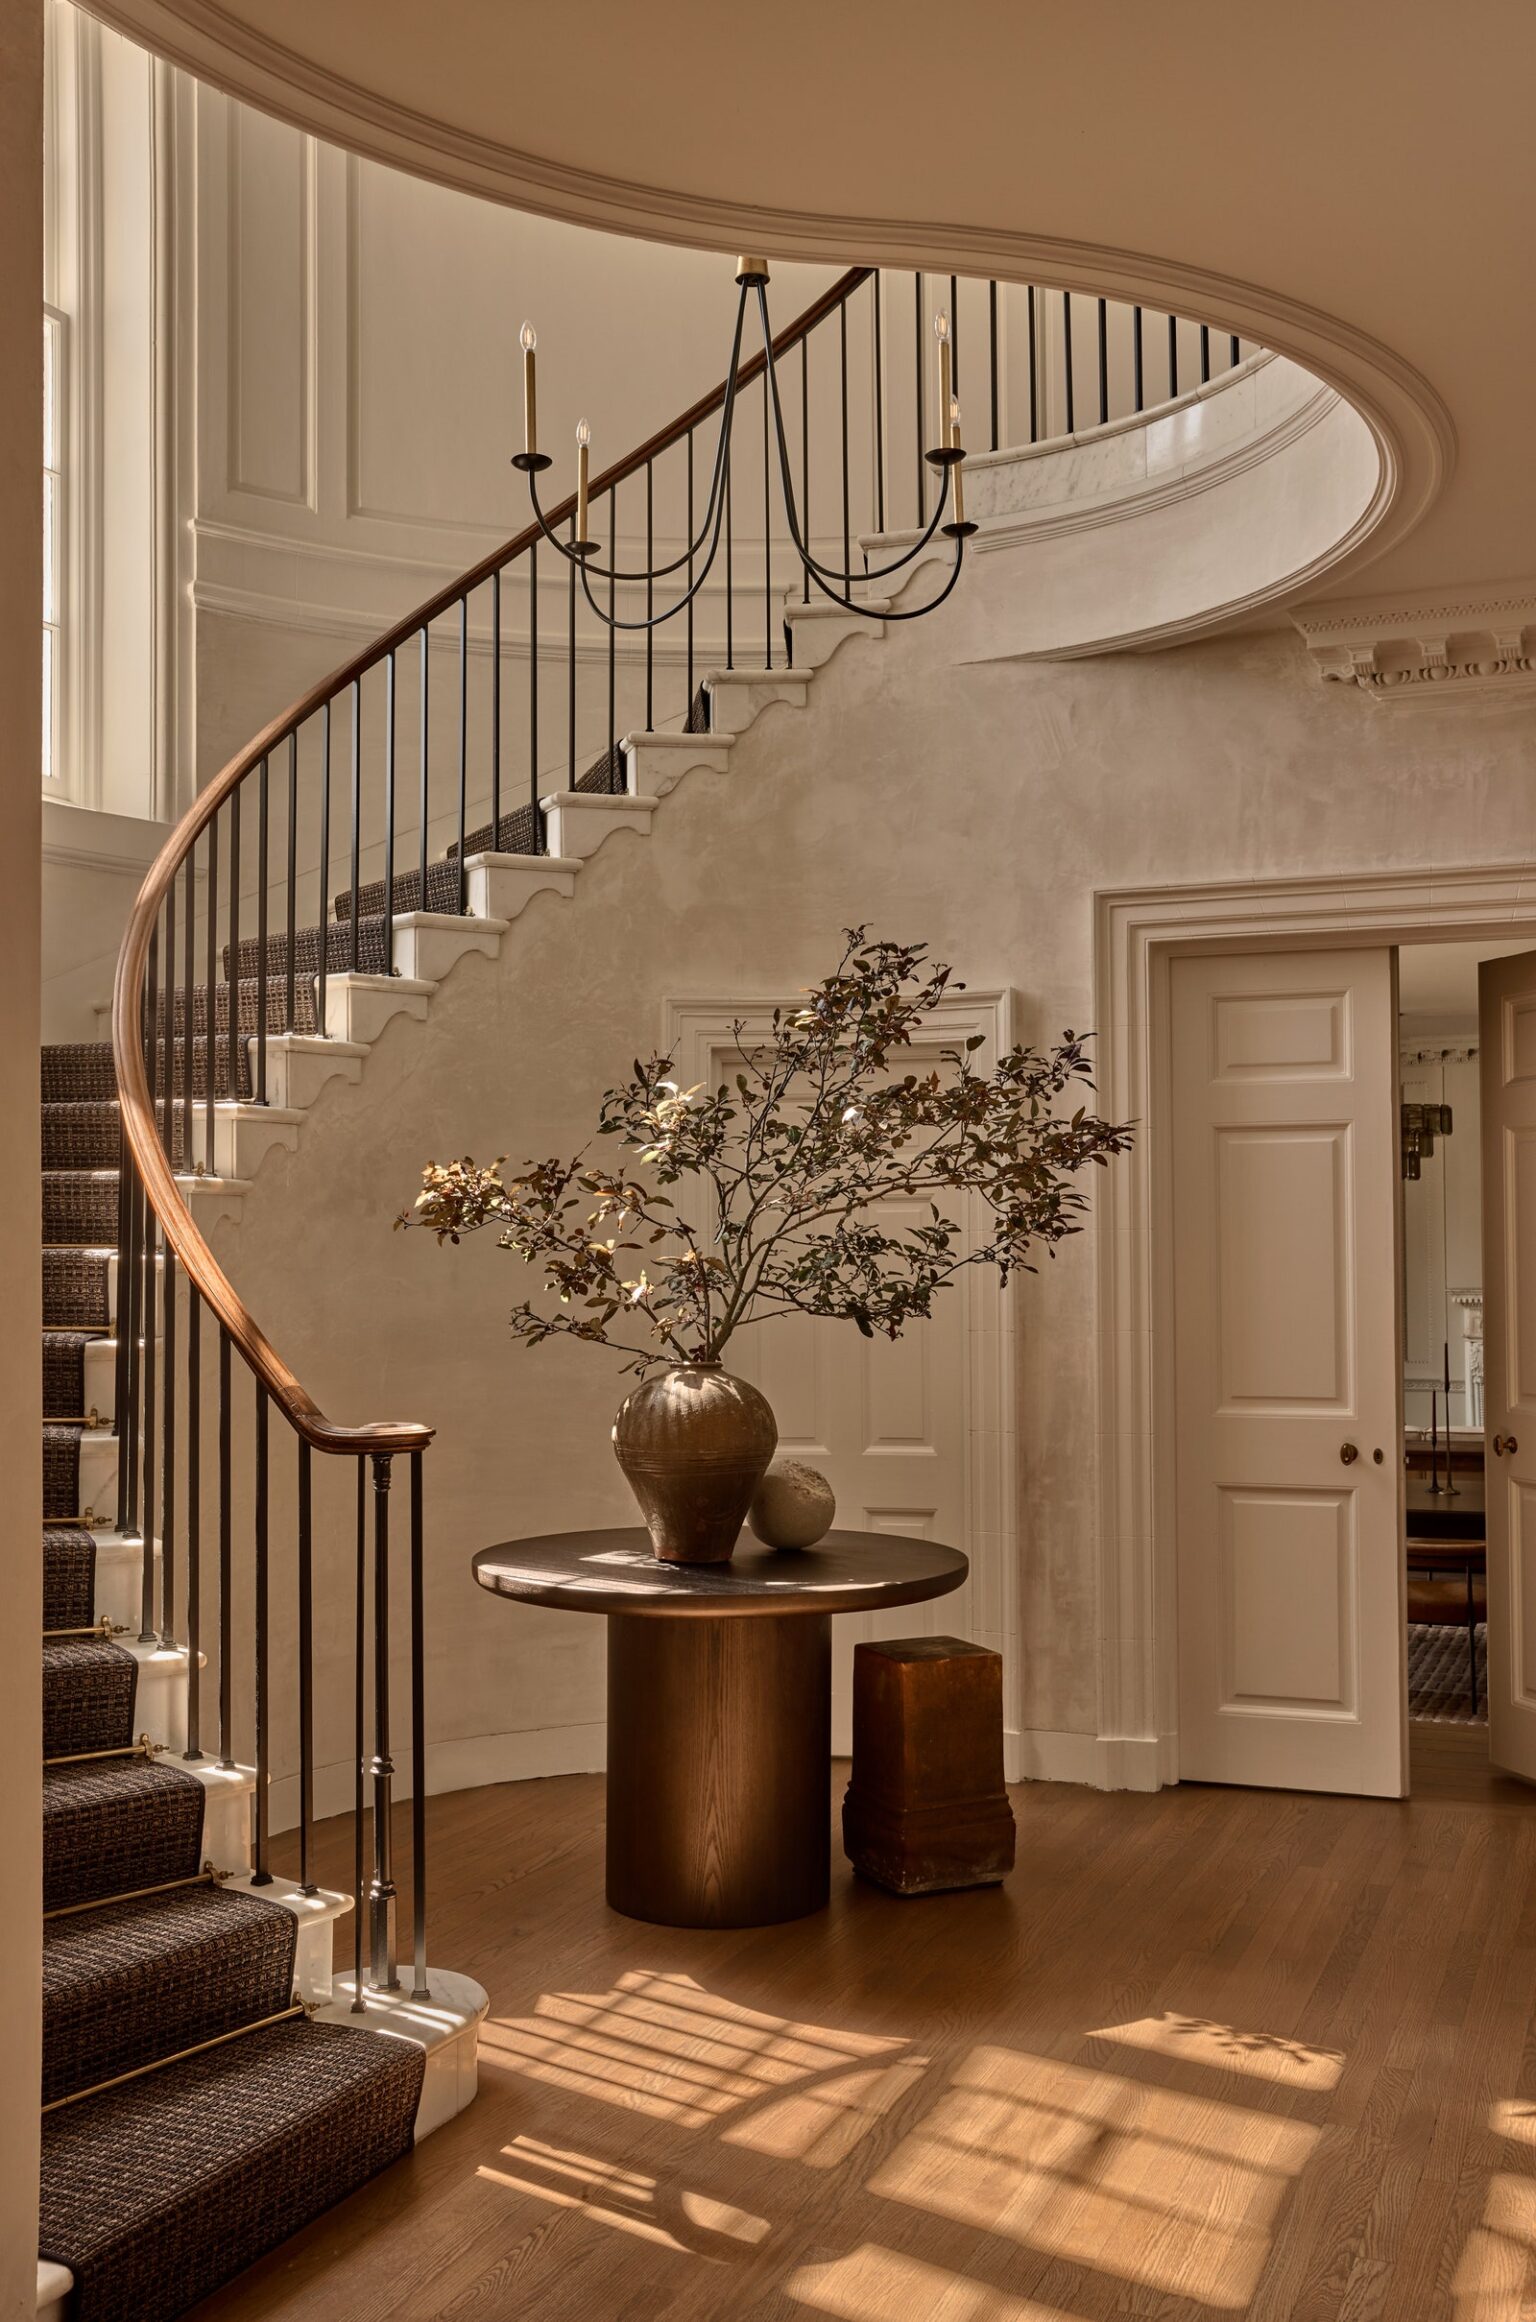
[[[1536,1781],[1536,952],[1478,987],[1487,1744]]]

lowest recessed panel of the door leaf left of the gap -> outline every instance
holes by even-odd
[[[1350,1711],[1352,1493],[1225,1491],[1218,1523],[1222,1707]]]

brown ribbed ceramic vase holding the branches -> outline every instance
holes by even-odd
[[[667,1565],[730,1560],[778,1444],[755,1386],[718,1363],[674,1363],[618,1407],[613,1451]]]

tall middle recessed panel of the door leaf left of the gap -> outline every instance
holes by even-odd
[[[1348,1126],[1218,1128],[1220,1393],[1343,1405]]]

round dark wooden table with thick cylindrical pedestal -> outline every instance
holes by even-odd
[[[660,1927],[769,1927],[827,1902],[832,1614],[948,1595],[960,1549],[748,1535],[727,1565],[662,1565],[646,1533],[481,1549],[495,1595],[609,1618],[609,1904]]]

